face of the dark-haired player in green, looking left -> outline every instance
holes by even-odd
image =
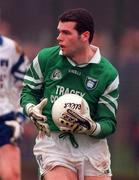
[[[81,35],[75,29],[75,22],[59,22],[58,31],[59,35],[57,40],[63,55],[73,58],[77,53],[80,53],[83,42]]]

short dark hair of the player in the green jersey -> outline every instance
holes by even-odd
[[[94,36],[94,20],[89,11],[83,8],[70,9],[62,13],[58,20],[61,22],[73,21],[76,22],[75,29],[79,34],[85,31],[90,32],[89,43],[92,42]]]

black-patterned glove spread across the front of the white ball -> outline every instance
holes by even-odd
[[[64,132],[93,135],[97,129],[97,124],[90,118],[90,115],[85,115],[78,114],[72,109],[67,109],[59,118],[59,129]]]

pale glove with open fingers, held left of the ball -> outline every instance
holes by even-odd
[[[47,124],[47,117],[42,115],[42,110],[46,104],[47,104],[47,98],[43,99],[36,106],[31,105],[30,107],[27,108],[27,114],[39,131],[42,131],[47,136],[50,136],[50,129]]]

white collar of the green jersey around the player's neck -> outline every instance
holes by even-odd
[[[95,54],[94,56],[90,59],[90,61],[87,63],[87,64],[76,64],[75,62],[72,61],[72,59],[68,58],[68,61],[69,63],[72,65],[72,66],[78,66],[78,67],[85,67],[87,66],[88,64],[99,64],[100,63],[100,60],[101,60],[101,54],[100,54],[100,50],[98,47],[94,46],[94,45],[90,45],[91,48],[95,51]],[[63,55],[62,51],[60,50],[59,51],[59,54],[60,55]]]

